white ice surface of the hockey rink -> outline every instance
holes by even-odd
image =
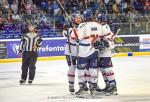
[[[0,102],[150,102],[150,56],[114,57],[113,64],[119,95],[82,99],[69,95],[65,60],[38,61],[32,85],[19,84],[21,62],[1,63]]]

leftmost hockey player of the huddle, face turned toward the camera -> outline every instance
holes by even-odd
[[[78,53],[78,46],[76,40],[72,39],[70,36],[76,34],[75,28],[81,23],[81,14],[79,12],[72,15],[72,22],[68,22],[64,27],[63,35],[67,39],[65,55],[67,63],[69,66],[68,70],[68,83],[69,91],[71,93],[75,92],[74,82],[75,82],[75,70],[76,70],[76,60]],[[71,23],[71,24],[70,24]],[[76,35],[77,36],[77,35]]]

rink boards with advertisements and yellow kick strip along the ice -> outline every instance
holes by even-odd
[[[65,59],[66,40],[63,37],[45,38],[39,48],[40,61]],[[20,39],[0,40],[0,63],[20,62],[18,55]],[[121,35],[115,39],[113,57],[150,55],[150,34]]]

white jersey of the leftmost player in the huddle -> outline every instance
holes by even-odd
[[[74,35],[74,28],[69,28],[68,30],[63,31],[63,36],[67,39],[65,45],[65,55],[77,56],[77,42],[71,38],[71,35]]]

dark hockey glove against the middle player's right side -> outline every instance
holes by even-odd
[[[95,49],[102,50],[106,47],[109,47],[109,43],[105,40],[99,40],[99,41],[95,41],[93,43],[93,46],[94,46]]]

